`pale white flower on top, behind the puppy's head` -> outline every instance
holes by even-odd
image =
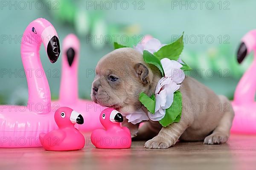
[[[166,44],[161,44],[161,42],[155,38],[152,38],[148,40],[145,43],[138,43],[136,47],[134,47],[135,50],[140,51],[141,54],[143,54],[144,50],[149,51],[151,54],[158,51],[161,47],[165,46]]]

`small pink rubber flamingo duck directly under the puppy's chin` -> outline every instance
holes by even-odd
[[[125,149],[131,147],[131,133],[127,127],[120,127],[123,122],[121,113],[113,108],[106,108],[100,114],[104,129],[93,130],[91,142],[100,149]]]

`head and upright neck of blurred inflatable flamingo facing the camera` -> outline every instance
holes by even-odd
[[[74,34],[69,34],[63,41],[60,100],[74,103],[78,96],[78,62],[80,43]]]

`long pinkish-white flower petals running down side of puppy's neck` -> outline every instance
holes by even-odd
[[[163,119],[166,109],[172,105],[174,92],[180,88],[178,84],[185,78],[184,72],[180,69],[182,65],[179,62],[168,58],[161,59],[160,62],[163,66],[165,77],[159,80],[155,91],[155,113],[148,113],[149,119],[153,121]]]

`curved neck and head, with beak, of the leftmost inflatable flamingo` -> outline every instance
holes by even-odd
[[[41,43],[44,44],[50,61],[56,62],[60,53],[58,35],[52,24],[43,18],[32,21],[26,28],[20,52],[28,83],[29,111],[48,113],[51,109],[51,93],[41,64]]]

